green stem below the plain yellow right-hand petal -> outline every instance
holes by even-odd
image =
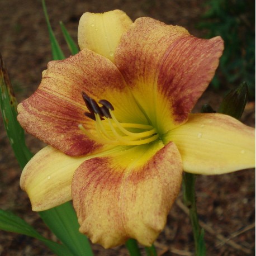
[[[196,192],[195,192],[196,175],[184,173],[183,178],[183,201],[189,209],[189,217],[192,224],[193,236],[195,240],[196,256],[206,255],[205,240],[203,239],[204,231],[199,225],[196,209]]]

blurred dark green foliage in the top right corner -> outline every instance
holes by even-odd
[[[220,35],[225,50],[212,80],[215,89],[233,88],[246,81],[255,99],[255,0],[208,0],[197,28],[206,38]]]

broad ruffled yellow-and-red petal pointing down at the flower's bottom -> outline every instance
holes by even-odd
[[[87,160],[72,182],[79,231],[105,248],[128,238],[150,246],[165,225],[181,181],[181,157],[173,143],[158,141]]]

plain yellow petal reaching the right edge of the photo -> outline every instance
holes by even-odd
[[[191,114],[164,140],[177,145],[189,173],[222,174],[255,167],[255,129],[230,116]]]

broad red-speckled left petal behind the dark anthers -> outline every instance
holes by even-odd
[[[105,98],[115,107],[116,117],[126,122],[147,122],[136,105],[122,75],[108,59],[84,49],[60,61],[50,61],[37,91],[18,105],[18,121],[30,134],[65,154],[79,156],[103,151],[78,128],[94,132],[95,124],[81,92],[97,101]]]

